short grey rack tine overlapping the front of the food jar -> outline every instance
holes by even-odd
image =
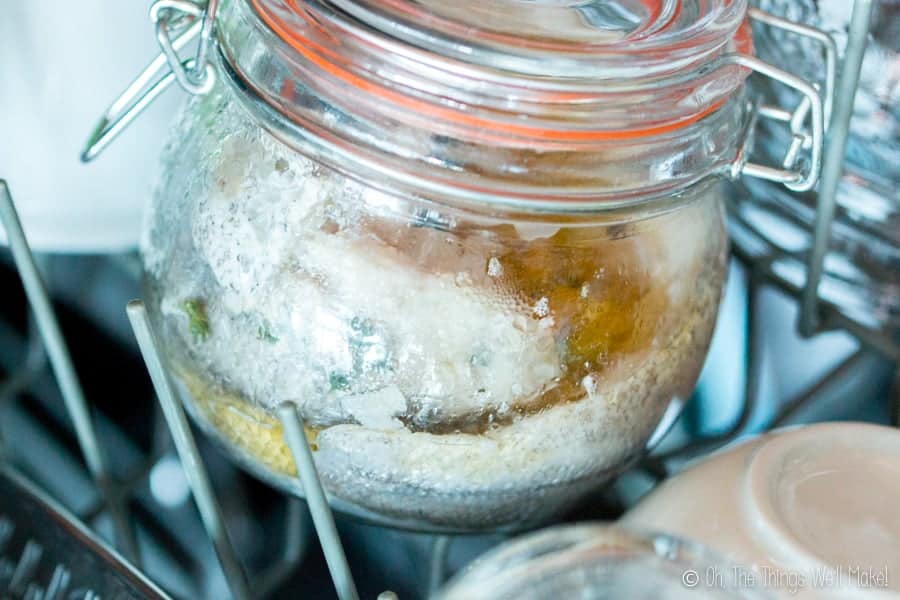
[[[322,553],[325,555],[325,562],[328,564],[328,571],[331,573],[338,598],[340,600],[359,600],[356,584],[350,573],[350,565],[347,563],[341,538],[334,525],[334,515],[331,507],[328,506],[322,480],[319,479],[319,473],[313,461],[312,450],[310,450],[309,442],[303,433],[303,418],[292,403],[279,406],[278,417],[284,428],[285,441],[294,457],[297,476],[303,487],[306,502],[309,505],[309,513],[319,536],[319,542],[322,544]]]

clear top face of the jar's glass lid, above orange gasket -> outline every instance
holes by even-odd
[[[296,0],[295,0],[296,1]],[[302,5],[300,2],[296,2]],[[746,0],[324,0],[390,37],[522,74],[671,72],[726,47]]]

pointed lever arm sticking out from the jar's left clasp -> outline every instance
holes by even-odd
[[[194,22],[172,41],[172,47],[175,50],[184,48],[200,33],[203,23],[199,17],[200,12],[193,15]],[[190,69],[193,63],[193,60],[186,61],[184,68]],[[83,162],[90,162],[97,158],[126,127],[175,82],[175,74],[171,70],[159,77],[168,64],[165,53],[161,52],[106,109],[81,151]],[[151,85],[154,80],[155,83]]]

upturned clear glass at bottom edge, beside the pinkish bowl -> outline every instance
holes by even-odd
[[[705,547],[665,534],[569,525],[491,550],[440,600],[763,600],[757,577]]]

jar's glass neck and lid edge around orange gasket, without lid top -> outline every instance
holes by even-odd
[[[373,45],[371,32],[338,35],[318,16],[298,16],[289,3],[299,1],[222,4],[222,80],[277,139],[382,191],[481,211],[656,213],[679,206],[673,198],[690,188],[734,174],[742,160],[752,119],[746,70],[728,60],[734,44],[722,60],[664,78],[662,87],[655,78],[593,89],[582,81],[581,91],[560,98],[566,82],[503,73],[485,81],[459,61],[415,60],[421,52],[381,34],[375,38],[388,46]],[[278,31],[266,11],[295,27]],[[322,61],[441,114],[378,100]],[[441,68],[447,64],[452,69]]]

